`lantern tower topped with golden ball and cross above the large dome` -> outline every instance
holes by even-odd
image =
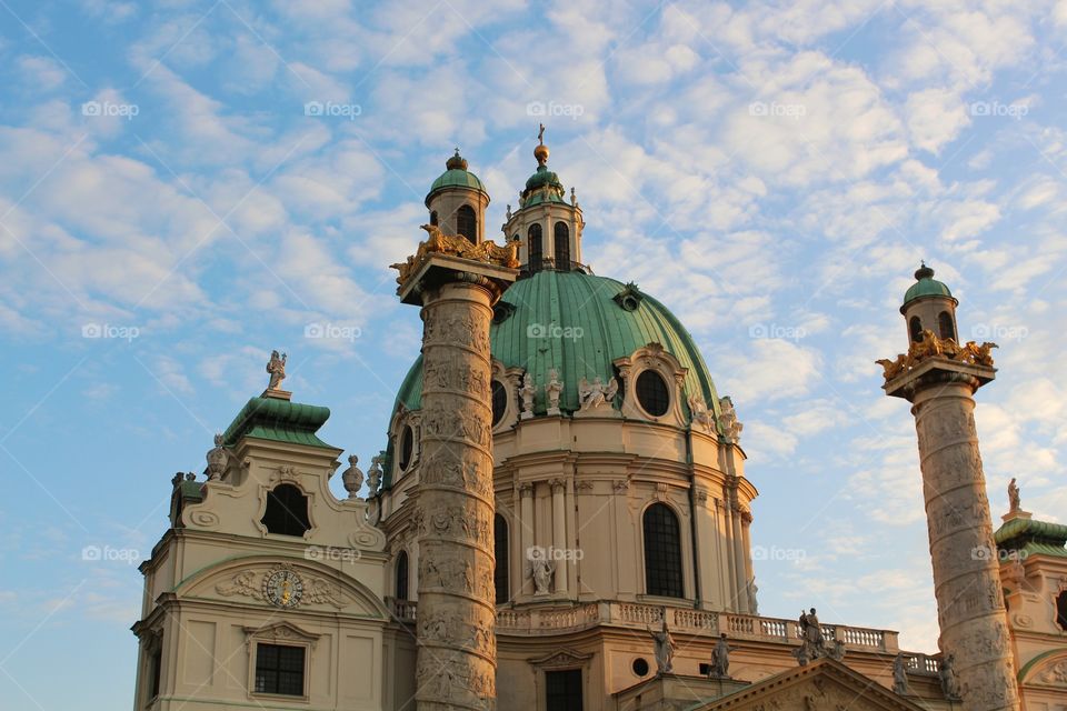
[[[508,214],[503,233],[509,241],[521,240],[519,261],[522,271],[534,274],[545,269],[571,271],[581,264],[581,208],[571,190],[571,199],[559,181],[559,176],[548,169],[548,146],[545,144],[545,126],[537,134],[534,149],[537,170],[526,181],[519,193],[519,209]]]

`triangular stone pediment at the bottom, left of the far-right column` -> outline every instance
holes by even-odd
[[[832,659],[775,674],[694,711],[921,711],[880,683]]]

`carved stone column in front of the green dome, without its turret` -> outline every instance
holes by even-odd
[[[431,232],[398,279],[423,321],[419,711],[496,707],[489,322],[516,272],[436,253],[443,240],[462,238]]]

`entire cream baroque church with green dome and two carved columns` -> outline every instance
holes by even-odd
[[[339,471],[329,410],[292,401],[276,352],[203,473],[174,477],[141,565],[134,710],[1067,711],[1067,527],[1016,495],[993,531],[966,415],[916,414],[927,483],[951,473],[928,463],[937,438],[964,437],[977,471],[930,521],[940,651],[759,613],[734,403],[664,304],[592,273],[575,190],[544,142],[535,158],[502,246],[458,151],[431,186],[428,238],[395,266],[422,354],[366,474],[355,455]],[[905,298],[886,390],[919,402],[951,372],[966,400],[993,379],[989,344],[956,346],[933,277]],[[958,574],[986,598],[965,609],[940,592],[968,547]],[[981,663],[1004,679],[979,693]]]

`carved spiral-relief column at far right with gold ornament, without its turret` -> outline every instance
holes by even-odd
[[[964,711],[1019,709],[974,417],[975,391],[995,377],[993,348],[924,331],[908,353],[878,361],[886,394],[913,405],[939,645],[955,655]]]

